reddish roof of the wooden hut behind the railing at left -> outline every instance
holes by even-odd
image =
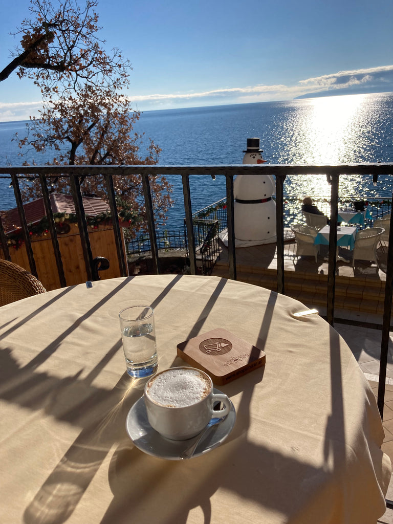
[[[50,203],[53,213],[75,213],[74,201],[71,195],[62,193],[51,193]],[[83,197],[83,207],[86,215],[96,216],[100,213],[110,212],[109,205],[100,198]],[[34,200],[23,205],[28,224],[38,223],[42,217],[46,216],[43,199]],[[10,209],[5,212],[4,229],[6,233],[11,233],[20,227],[18,208]]]

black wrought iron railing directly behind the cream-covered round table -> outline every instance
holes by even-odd
[[[0,167],[0,174],[9,174],[12,181],[16,203],[20,215],[21,228],[26,243],[27,256],[30,265],[30,271],[37,276],[37,269],[34,254],[31,248],[28,225],[23,209],[23,201],[19,189],[20,177],[39,177],[42,188],[42,196],[45,202],[46,213],[49,222],[49,232],[52,238],[52,247],[56,257],[56,263],[59,273],[61,286],[66,286],[61,253],[57,239],[56,225],[53,219],[53,213],[50,206],[49,190],[47,177],[50,176],[67,176],[70,179],[70,188],[75,204],[75,213],[77,215],[79,234],[83,246],[83,256],[85,261],[86,274],[89,280],[96,277],[96,262],[93,260],[88,224],[83,209],[82,193],[80,187],[81,177],[91,177],[103,175],[106,180],[108,202],[110,204],[112,216],[117,216],[117,207],[115,192],[113,188],[113,176],[126,176],[129,174],[139,174],[142,178],[146,214],[151,244],[151,254],[154,264],[154,272],[160,273],[160,264],[158,256],[157,234],[154,223],[154,210],[150,194],[149,178],[157,175],[177,175],[182,179],[183,197],[184,197],[184,214],[185,225],[187,230],[187,243],[189,247],[190,272],[192,275],[197,273],[197,253],[195,232],[193,226],[193,216],[191,211],[191,194],[189,178],[191,175],[223,176],[226,180],[226,219],[227,219],[227,236],[228,236],[228,259],[230,278],[236,279],[236,250],[235,250],[235,233],[234,233],[234,177],[238,174],[247,174],[258,176],[261,174],[258,165],[239,165],[239,166],[29,166],[29,167]],[[298,176],[307,174],[310,176],[325,174],[331,183],[330,197],[330,217],[332,223],[337,223],[339,209],[339,180],[344,174],[353,174],[359,177],[369,176],[376,178],[378,175],[388,175],[392,177],[393,186],[393,164],[353,164],[344,166],[269,166],[264,165],[263,174],[272,175],[276,178],[276,225],[277,225],[277,290],[279,293],[285,293],[285,271],[284,271],[284,224],[285,224],[285,195],[283,194],[283,182],[287,175]],[[388,344],[391,319],[392,291],[393,291],[393,215],[390,217],[390,232],[387,254],[387,272],[385,287],[385,302],[383,323],[381,325],[382,340],[380,354],[380,370],[378,385],[378,407],[381,415],[384,409],[385,396],[385,379],[388,357]],[[126,259],[122,247],[122,238],[120,226],[117,221],[113,221],[116,251],[119,260],[119,270],[121,275],[126,276]],[[0,220],[0,241],[3,248],[4,257],[10,259],[7,245],[7,238],[4,232],[3,224]],[[326,300],[326,319],[333,325],[334,323],[334,297],[335,297],[335,275],[336,275],[336,245],[337,230],[331,228],[329,238],[329,271],[328,271],[328,296]],[[355,322],[353,322],[355,323]]]

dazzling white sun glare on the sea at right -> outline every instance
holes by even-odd
[[[275,129],[280,135],[281,151],[285,151],[277,163],[341,165],[381,161],[375,158],[375,151],[383,135],[381,126],[386,115],[382,111],[383,106],[373,103],[367,94],[307,99],[301,101],[300,107],[296,101],[289,118]],[[383,183],[375,191],[370,188],[371,176],[340,177],[341,199],[370,198],[385,189],[391,194],[391,188]],[[330,191],[324,176],[287,177],[285,183],[285,192],[292,195],[329,198]]]

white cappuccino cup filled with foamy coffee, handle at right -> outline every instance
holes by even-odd
[[[145,406],[149,424],[170,440],[187,440],[198,435],[213,417],[224,417],[231,401],[213,393],[209,375],[191,367],[174,367],[157,373],[145,385]],[[215,410],[222,402],[224,408]]]

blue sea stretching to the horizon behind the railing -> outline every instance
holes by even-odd
[[[334,165],[354,162],[393,162],[393,93],[326,96],[282,102],[216,105],[146,111],[134,130],[161,148],[163,166],[241,164],[247,138],[258,137],[262,156],[270,164]],[[53,152],[19,150],[15,134],[26,134],[26,122],[0,123],[0,165],[38,165]],[[23,157],[20,156],[23,152]],[[261,166],[263,169],[263,166]],[[180,177],[169,176],[173,206],[164,226],[183,229]],[[340,178],[342,199],[391,198],[389,177]],[[225,198],[225,178],[190,177],[192,211]],[[329,198],[324,176],[287,177],[284,192],[292,196]],[[9,179],[0,178],[0,209],[15,207]]]

